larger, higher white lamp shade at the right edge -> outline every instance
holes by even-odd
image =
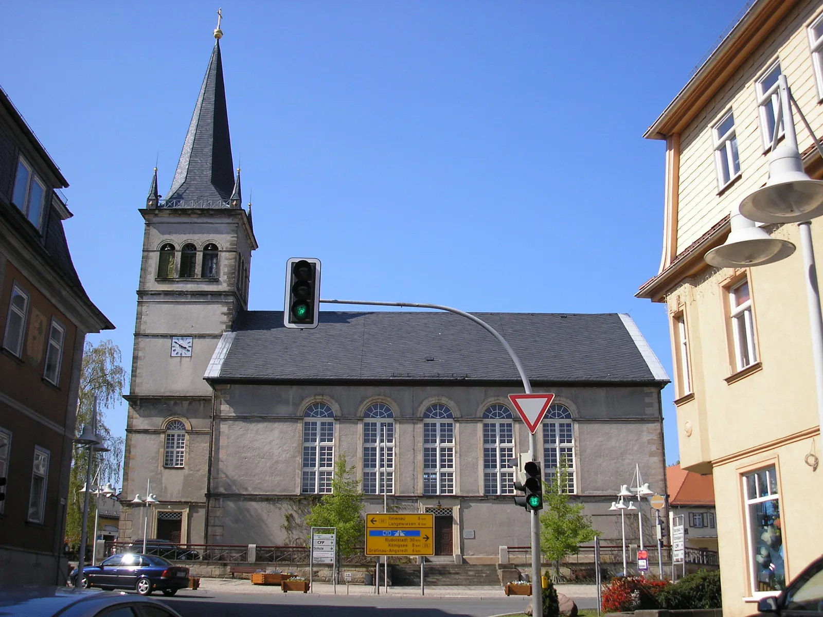
[[[797,148],[783,141],[770,155],[769,181],[740,202],[743,216],[761,223],[797,223],[823,215],[823,182],[803,170]]]

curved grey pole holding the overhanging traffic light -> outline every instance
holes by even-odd
[[[467,318],[468,320],[477,323],[478,326],[482,327],[486,332],[489,332],[491,336],[494,336],[498,341],[500,341],[500,345],[503,346],[504,350],[509,354],[509,357],[514,362],[514,368],[517,369],[517,372],[520,375],[520,380],[523,382],[523,390],[526,394],[532,393],[532,383],[528,381],[528,376],[526,375],[526,370],[523,369],[523,364],[520,362],[518,355],[514,352],[512,347],[509,345],[509,342],[506,341],[500,332],[497,332],[495,328],[491,327],[488,323],[484,322],[481,318],[475,317],[472,313],[466,313],[465,311],[461,311],[459,308],[452,308],[450,306],[444,306],[442,304],[422,304],[420,302],[370,302],[365,300],[320,300],[323,304],[364,304],[366,306],[398,306],[398,307],[408,307],[408,308],[434,308],[435,310],[439,311],[447,311],[449,313],[454,313],[455,315],[460,315],[460,317]],[[532,458],[532,461],[537,461],[537,436],[532,433],[529,435],[528,438],[528,453]],[[542,596],[542,584],[541,584],[541,573],[540,573],[540,513],[537,510],[531,511],[531,525],[532,525],[532,615],[539,617],[539,615],[543,614],[543,596]]]

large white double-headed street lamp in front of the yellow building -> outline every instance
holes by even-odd
[[[821,313],[820,290],[817,288],[817,268],[815,263],[814,245],[811,242],[810,219],[823,216],[823,182],[812,180],[803,169],[803,161],[797,149],[797,132],[794,129],[792,104],[803,125],[815,142],[817,151],[823,157],[823,146],[811,130],[806,116],[789,90],[785,75],[778,77],[778,94],[780,104],[774,118],[774,135],[772,136],[772,152],[769,160],[769,181],[765,187],[746,195],[740,202],[739,209],[732,208],[732,234],[734,234],[734,215],[739,211],[737,218],[743,217],[761,223],[797,223],[800,230],[800,244],[803,253],[803,270],[806,279],[806,293],[809,306],[809,326],[811,328],[811,355],[814,358],[815,381],[817,386],[817,415],[823,432],[823,313]],[[785,139],[777,146],[777,137],[781,120]],[[754,223],[751,223],[754,226]],[[760,230],[763,231],[763,230]],[[765,255],[751,255],[751,259],[741,264],[737,253],[746,251],[750,243],[732,239],[729,234],[723,247],[715,248],[706,253],[705,260],[716,267],[762,266],[767,263],[784,259],[794,252],[785,248],[791,244],[785,240],[772,239],[773,242],[783,242],[784,248],[775,252],[771,257]],[[765,234],[765,231],[763,232]],[[768,235],[768,234],[765,234]],[[776,245],[773,245],[773,247]],[[723,252],[720,249],[728,248]]]

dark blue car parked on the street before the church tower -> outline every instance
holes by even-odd
[[[77,568],[71,578],[77,587]],[[178,589],[188,587],[188,568],[153,554],[114,554],[100,565],[83,568],[80,587],[134,589],[141,596],[159,589],[164,596],[174,596]]]

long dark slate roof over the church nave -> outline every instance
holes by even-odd
[[[667,383],[628,315],[475,313],[517,352],[532,382]],[[519,381],[490,333],[452,313],[321,312],[314,330],[280,311],[240,313],[206,378]]]

